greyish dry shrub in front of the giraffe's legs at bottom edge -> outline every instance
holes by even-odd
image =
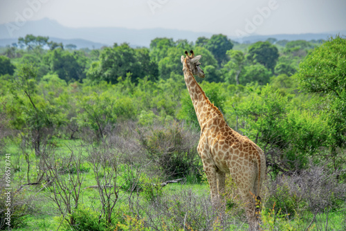
[[[152,230],[242,230],[242,222],[225,212],[224,203],[212,204],[210,194],[179,190],[150,203],[136,203],[140,219]]]

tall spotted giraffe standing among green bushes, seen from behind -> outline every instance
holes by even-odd
[[[189,56],[185,51],[186,57],[181,56],[181,63],[185,84],[201,127],[197,151],[208,178],[212,201],[224,194],[225,175],[230,174],[245,203],[249,230],[259,230],[260,218],[256,212],[260,207],[260,190],[266,174],[264,152],[248,137],[228,127],[222,113],[194,79],[194,75],[205,77],[199,62],[201,55],[194,56],[192,50],[190,53]]]

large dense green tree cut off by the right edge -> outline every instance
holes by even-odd
[[[346,40],[331,37],[315,48],[300,63],[295,77],[301,89],[319,96],[314,107],[328,115],[333,127],[329,133],[335,140],[330,148],[336,159],[336,148],[346,145]]]

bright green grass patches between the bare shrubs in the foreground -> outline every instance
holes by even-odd
[[[68,156],[71,153],[69,147],[78,148],[81,146],[81,142],[79,140],[61,140],[55,138],[52,142],[56,147],[56,153],[60,154],[61,158],[64,156]],[[28,165],[26,163],[24,155],[21,153],[21,149],[19,148],[18,142],[15,142],[14,140],[6,140],[5,151],[5,153],[11,154],[11,167],[13,169],[13,171],[11,172],[12,187],[13,189],[17,189],[20,187],[20,185],[27,183],[26,169]],[[87,156],[86,151],[82,151],[82,156],[83,158]],[[3,158],[2,155],[1,157],[2,158],[0,159],[0,165],[4,166],[5,158]],[[29,158],[32,162],[30,166],[30,178],[31,182],[35,182],[35,165],[37,164],[37,158],[33,151],[31,151]],[[81,165],[84,181],[82,183],[80,207],[84,205],[86,207],[91,208],[95,212],[100,212],[101,208],[97,190],[92,188],[84,189],[85,187],[96,185],[93,169],[91,165],[89,165],[89,163],[86,162],[86,160],[84,161],[85,162]],[[120,172],[118,174],[127,175],[127,168],[122,166],[119,169]],[[120,181],[123,182],[122,179],[120,179]],[[197,197],[203,197],[209,194],[208,184],[192,182],[194,181],[193,179],[191,179],[190,176],[190,179],[188,179],[188,181],[185,181],[185,183],[168,184],[165,187],[163,187],[162,193],[163,195],[168,197],[172,196],[171,198],[174,198],[174,196],[176,195],[183,194],[188,190],[191,190]],[[41,190],[39,194],[37,194],[38,190]],[[12,191],[14,192],[14,190]],[[57,216],[60,216],[60,214],[58,210],[54,207],[53,202],[49,201],[48,198],[46,198],[47,194],[49,194],[48,190],[42,189],[42,185],[26,186],[21,191],[21,194],[25,195],[26,198],[35,195],[33,197],[35,198],[35,201],[33,201],[33,210],[35,211],[30,212],[30,214],[26,216],[26,225],[24,227],[15,228],[13,230],[56,230],[59,226]],[[120,194],[128,196],[129,193],[125,192],[124,190],[121,190]],[[138,199],[143,201],[143,195],[143,193],[140,193]],[[128,214],[128,202],[120,201],[118,203],[118,206],[116,207],[116,210],[119,212],[119,216],[123,216],[123,214]],[[193,212],[194,211],[192,211],[192,213]],[[316,222],[314,222],[313,225],[311,225],[311,228],[309,230],[324,230],[323,227],[325,225],[325,222],[327,221],[327,216],[328,230],[343,230],[343,228],[345,228],[346,212],[345,206],[343,206],[341,210],[338,211],[329,212],[325,214],[318,214],[316,216]],[[289,223],[293,227],[298,227],[297,223],[300,222],[300,227],[307,228],[312,219],[313,215],[310,212],[304,212],[304,214],[300,215],[300,220],[293,219],[293,221],[290,221]],[[246,223],[242,221],[235,221],[234,225],[230,225],[230,227],[233,230],[245,230],[246,226]]]

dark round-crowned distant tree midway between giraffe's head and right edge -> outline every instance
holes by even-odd
[[[248,47],[247,58],[252,62],[264,65],[269,70],[274,70],[278,57],[279,51],[276,46],[268,41],[257,41]]]

